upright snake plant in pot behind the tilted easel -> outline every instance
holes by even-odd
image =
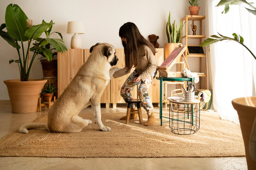
[[[182,39],[182,20],[180,21],[180,25],[177,29],[177,25],[174,23],[171,24],[170,21],[171,13],[169,12],[168,20],[165,26],[166,36],[168,43],[165,43],[165,59],[169,56],[169,54],[174,50],[174,48],[178,47],[181,39]]]

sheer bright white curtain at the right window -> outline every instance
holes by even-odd
[[[221,14],[220,0],[206,0],[206,37],[233,33],[244,38],[244,44],[256,55],[256,16],[244,7],[229,6],[229,13]],[[256,0],[249,0],[254,2]],[[238,114],[231,101],[238,97],[256,95],[256,59],[238,42],[218,42],[207,47],[209,86],[212,88],[214,110],[221,119],[239,124]]]

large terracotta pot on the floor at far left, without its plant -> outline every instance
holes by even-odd
[[[29,81],[4,80],[13,113],[32,113],[37,111],[38,98],[47,80],[29,79]]]

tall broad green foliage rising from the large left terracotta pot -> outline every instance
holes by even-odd
[[[18,52],[18,59],[9,60],[9,64],[12,62],[18,63],[21,81],[28,81],[29,73],[30,73],[33,61],[39,52],[43,52],[48,56],[50,55],[49,51],[45,50],[45,48],[36,48],[36,45],[34,45],[32,49],[35,47],[35,50],[33,51],[34,52],[33,56],[30,60],[30,63],[27,66],[28,53],[29,53],[31,42],[39,38],[43,32],[45,32],[50,26],[53,25],[53,23],[42,23],[27,29],[26,19],[28,19],[26,14],[22,11],[22,9],[18,5],[9,4],[5,12],[5,23],[0,26],[0,36],[4,40],[6,40],[12,47],[16,48]],[[7,32],[3,31],[4,28],[7,29]],[[56,43],[60,42],[60,41],[56,42],[54,40],[48,40],[47,38],[45,38],[44,40],[47,40],[47,43],[50,43],[55,48],[57,47]],[[37,44],[37,46],[41,47],[45,43],[44,40],[40,41]],[[28,46],[26,50],[24,47],[24,42],[27,42],[27,41],[28,41]],[[60,51],[64,52],[64,50],[60,50]]]

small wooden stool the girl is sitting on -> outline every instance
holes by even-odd
[[[142,124],[143,122],[142,122],[142,114],[141,114],[141,108],[140,108],[141,101],[139,99],[132,99],[132,100],[127,100],[125,102],[127,102],[126,124],[129,123],[131,113],[138,114],[139,124]],[[137,110],[132,110],[131,111],[131,105],[133,103],[137,104]]]

